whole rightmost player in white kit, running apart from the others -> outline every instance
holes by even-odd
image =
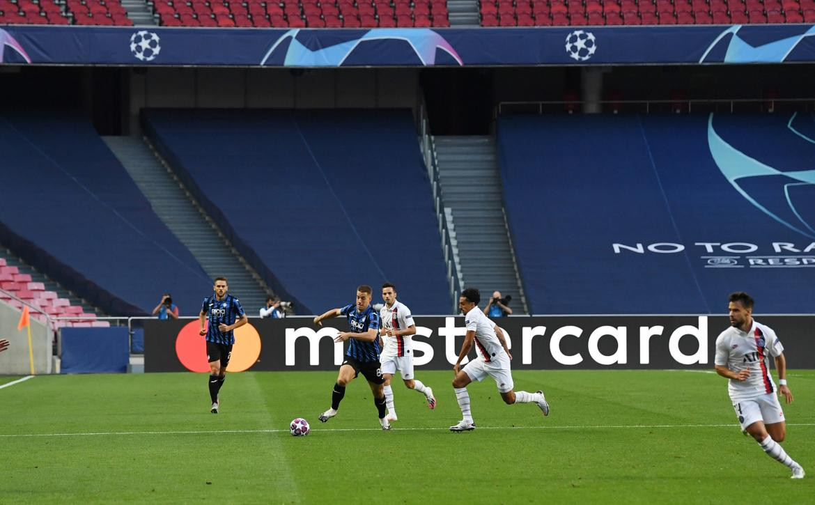
[[[752,318],[750,295],[734,292],[729,300],[730,327],[716,338],[716,373],[729,379],[728,392],[742,432],[749,433],[764,452],[789,467],[793,479],[802,479],[804,468],[786,455],[780,444],[786,437],[786,421],[769,373],[769,356],[773,356],[778,393],[791,403],[784,346],[770,327]]]

